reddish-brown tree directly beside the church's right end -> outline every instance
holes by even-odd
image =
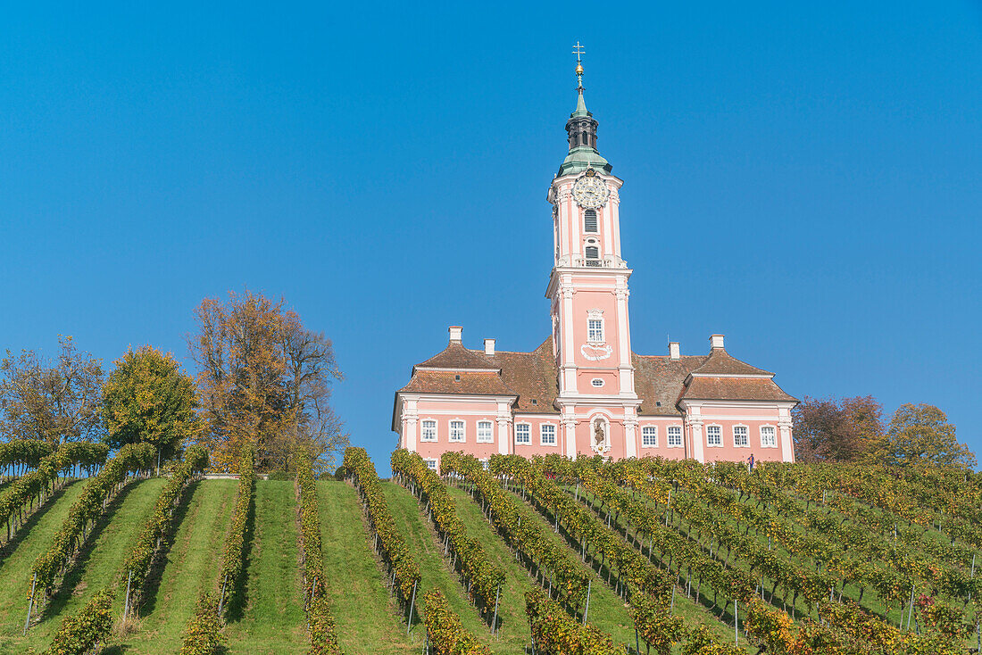
[[[883,406],[872,396],[805,398],[792,411],[794,459],[856,462],[883,441]]]

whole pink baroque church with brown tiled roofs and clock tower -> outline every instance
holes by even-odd
[[[624,182],[597,151],[597,121],[583,100],[567,121],[569,154],[553,179],[552,334],[530,353],[447,348],[412,367],[396,392],[399,446],[436,467],[464,451],[503,455],[690,458],[793,462],[797,401],[774,373],[730,355],[723,335],[706,355],[637,355],[630,347],[627,280],[618,208]]]

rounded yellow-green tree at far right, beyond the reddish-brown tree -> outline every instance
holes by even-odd
[[[955,425],[933,405],[906,403],[894,412],[883,447],[883,464],[938,464],[958,468],[975,466],[975,456],[955,438]]]

